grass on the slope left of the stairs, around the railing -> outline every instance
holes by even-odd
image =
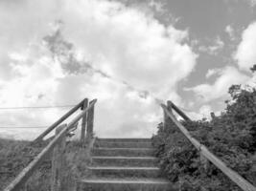
[[[0,190],[3,190],[49,141],[32,145],[29,141],[0,138]],[[86,177],[89,172],[86,166],[90,162],[86,145],[78,141],[67,143],[63,168],[63,191],[73,190],[76,181]],[[50,190],[51,156],[45,159],[33,176],[27,181],[26,191]]]

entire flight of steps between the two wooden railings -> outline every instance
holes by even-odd
[[[162,178],[150,138],[98,138],[89,170],[78,191],[177,190]]]

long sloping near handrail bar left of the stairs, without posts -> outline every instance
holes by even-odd
[[[70,123],[68,123],[59,133],[58,135],[33,159],[29,165],[24,168],[19,175],[12,180],[8,187],[5,188],[4,191],[17,191],[21,188],[21,186],[32,176],[35,169],[39,166],[39,164],[50,154],[50,152],[57,145],[58,141],[66,136],[69,129],[71,129],[76,123],[83,117],[96,103],[97,99],[93,99],[91,104],[84,110],[82,110],[81,114],[75,117]]]

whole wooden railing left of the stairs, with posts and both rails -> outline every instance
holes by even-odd
[[[35,141],[39,141],[44,138],[47,134],[53,131],[56,128],[56,136],[53,138],[50,143],[29,163],[27,167],[25,167],[19,175],[12,180],[8,187],[5,188],[4,191],[16,191],[20,190],[26,183],[26,181],[33,175],[35,169],[38,168],[40,163],[46,159],[52,152],[52,174],[51,174],[51,191],[60,191],[61,185],[59,184],[59,180],[61,180],[61,159],[63,158],[63,151],[65,149],[65,138],[68,135],[69,131],[73,129],[74,126],[78,124],[80,120],[81,122],[81,141],[85,140],[85,128],[86,128],[86,138],[90,140],[93,134],[93,116],[94,116],[94,105],[96,103],[96,99],[90,101],[89,106],[87,106],[88,99],[83,99],[77,106],[71,109],[67,114],[63,117],[60,117],[58,121],[56,121],[53,125],[51,125],[46,131],[44,131],[38,138],[35,138]],[[82,110],[82,112],[75,117],[68,124],[61,124],[67,117],[70,117],[74,112],[78,109]]]

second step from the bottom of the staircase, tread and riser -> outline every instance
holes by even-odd
[[[91,166],[88,169],[96,177],[107,178],[159,178],[161,171],[157,167],[120,167]]]

